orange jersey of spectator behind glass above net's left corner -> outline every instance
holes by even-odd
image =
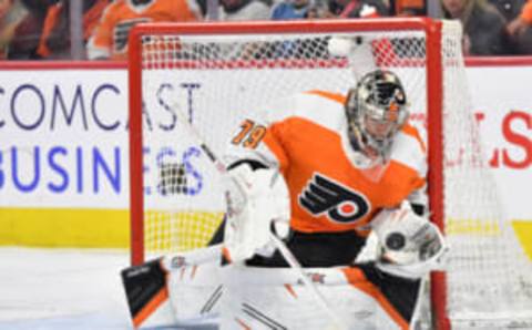
[[[153,0],[133,4],[116,0],[108,6],[88,44],[89,59],[123,60],[127,54],[127,37],[137,23],[186,22],[201,18],[195,0]]]

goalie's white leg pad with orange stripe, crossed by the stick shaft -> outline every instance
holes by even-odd
[[[350,274],[351,272],[351,274]],[[357,268],[306,268],[341,329],[408,329]],[[352,276],[351,276],[352,275]],[[221,329],[339,329],[289,268],[224,269]],[[374,290],[375,289],[375,290]]]

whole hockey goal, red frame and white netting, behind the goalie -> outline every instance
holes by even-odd
[[[331,40],[359,47],[346,53],[345,43],[331,48]],[[132,262],[205,247],[224,216],[222,178],[177,116],[186,116],[219,156],[260,105],[307,90],[346,93],[375,66],[400,75],[411,121],[429,144],[432,219],[451,245],[447,271],[432,276],[436,322],[530,326],[530,260],[488,168],[468,94],[461,30],[452,22],[136,27],[130,35]]]

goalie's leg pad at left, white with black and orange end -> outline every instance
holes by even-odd
[[[122,271],[135,329],[217,327],[222,247],[165,256]]]

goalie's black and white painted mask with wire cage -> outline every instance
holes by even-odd
[[[351,146],[371,159],[388,159],[393,137],[408,118],[401,81],[390,71],[366,74],[349,91],[346,114]]]

